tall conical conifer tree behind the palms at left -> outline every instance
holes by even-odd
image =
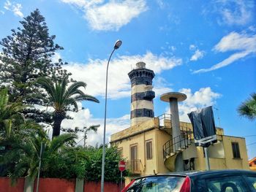
[[[40,96],[37,77],[58,77],[63,73],[60,60],[53,64],[51,57],[56,50],[63,49],[55,44],[55,36],[50,36],[45,18],[38,9],[20,21],[22,27],[12,29],[12,35],[0,41],[0,85],[10,87],[10,100],[22,101],[23,104],[44,105],[44,96]],[[58,73],[59,72],[59,73]],[[24,111],[26,117],[37,122],[50,122],[50,114],[39,110]]]

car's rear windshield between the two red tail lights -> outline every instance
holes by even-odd
[[[179,191],[185,177],[156,176],[135,180],[127,192],[169,192]]]

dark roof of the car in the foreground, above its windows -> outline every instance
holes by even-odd
[[[186,177],[203,179],[206,177],[228,177],[235,175],[252,175],[256,176],[256,172],[242,170],[242,169],[224,169],[224,170],[209,170],[209,171],[189,171],[189,172],[170,172],[165,174],[153,174],[143,177],[154,177],[154,176],[174,176],[174,177]],[[140,179],[143,177],[138,177]]]

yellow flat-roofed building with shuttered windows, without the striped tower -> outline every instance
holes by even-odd
[[[184,148],[175,154],[171,151],[173,139],[170,136],[169,115],[147,120],[136,126],[111,135],[111,145],[116,145],[124,158],[127,168],[135,176],[175,172],[176,156],[182,155],[184,170],[206,169],[203,147],[195,147],[191,123],[181,122]],[[162,124],[161,121],[164,123]],[[218,142],[208,147],[211,169],[249,169],[245,139],[226,136],[217,128]]]

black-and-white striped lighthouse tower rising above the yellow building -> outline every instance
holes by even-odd
[[[131,95],[131,126],[154,118],[154,91],[152,80],[154,72],[146,69],[144,62],[136,64],[136,69],[129,72],[132,84]]]

